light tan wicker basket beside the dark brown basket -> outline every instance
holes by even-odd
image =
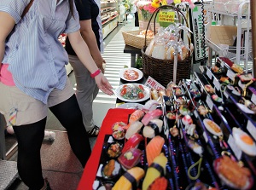
[[[125,44],[135,47],[137,49],[143,49],[143,46],[145,43],[145,37],[137,36],[140,34],[140,32],[141,32],[140,30],[122,32],[125,40]],[[147,37],[146,45],[148,45],[153,38],[154,37]]]

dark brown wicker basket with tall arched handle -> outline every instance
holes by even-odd
[[[159,10],[162,9],[163,7],[172,8],[172,9],[176,10],[178,12],[178,14],[182,15],[183,20],[186,21],[186,24],[188,26],[188,22],[187,22],[186,18],[184,17],[184,15],[182,13],[180,13],[180,11],[177,8],[172,7],[171,5],[165,5],[165,6],[160,7],[159,9],[156,9],[154,11],[154,14],[155,13],[157,14],[159,12]],[[152,17],[153,17],[153,15],[152,15]],[[180,16],[180,15],[178,15],[178,16]],[[152,19],[152,17],[151,17],[151,19]],[[151,19],[149,20],[148,25],[149,25]],[[154,20],[154,25],[155,25],[155,20]],[[146,32],[146,35],[147,35],[147,32]],[[144,41],[145,40],[146,39],[144,38]],[[189,40],[189,43],[190,43],[190,40]],[[160,84],[162,84],[163,86],[166,87],[166,85],[168,83],[173,81],[174,61],[173,60],[160,60],[160,59],[156,59],[152,56],[146,55],[145,50],[146,50],[147,46],[148,46],[148,44],[146,42],[144,42],[144,47],[142,49],[143,74],[145,77],[150,76],[150,77],[154,78],[157,82],[159,82]],[[192,60],[192,56],[189,55],[189,57],[186,58],[185,60],[177,61],[176,82],[179,82],[183,78],[190,78],[190,72],[191,72],[191,67],[192,67],[191,60]]]

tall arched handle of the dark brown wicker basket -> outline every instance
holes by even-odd
[[[156,20],[156,17],[157,17],[157,14],[159,13],[160,9],[165,9],[165,8],[172,8],[173,10],[175,10],[177,12],[177,19],[179,21],[181,21],[181,18],[180,18],[180,15],[182,15],[183,17],[183,20],[185,20],[186,22],[186,26],[189,27],[189,22],[188,20],[186,19],[185,15],[183,14],[183,12],[180,10],[180,9],[177,9],[177,7],[173,6],[173,5],[162,5],[160,6],[158,9],[155,9],[154,10],[154,13],[151,15],[149,21],[148,21],[148,26],[152,20],[152,18],[154,17],[154,35],[155,35],[155,20]],[[155,16],[154,16],[155,14]],[[147,46],[147,32],[148,32],[148,26],[147,26],[147,29],[146,29],[146,33],[145,33],[145,42],[144,42],[144,47]],[[189,43],[190,43],[190,39],[189,39]]]

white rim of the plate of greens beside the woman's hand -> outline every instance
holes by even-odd
[[[144,97],[142,99],[137,99],[137,100],[130,100],[130,99],[125,99],[122,95],[120,95],[120,89],[123,88],[124,85],[142,85],[144,89]],[[119,100],[121,101],[126,101],[126,102],[141,102],[141,101],[146,101],[150,97],[150,89],[141,84],[141,83],[125,83],[123,85],[120,85],[117,89],[114,90],[114,94],[118,97]]]

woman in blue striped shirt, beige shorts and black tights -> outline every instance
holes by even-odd
[[[29,4],[30,9],[22,15]],[[73,153],[83,166],[91,153],[79,105],[67,78],[68,56],[58,41],[61,33],[67,33],[99,89],[113,95],[80,35],[73,0],[0,1],[0,112],[14,127],[19,175],[30,189],[50,189],[40,161],[48,108],[67,129]]]

